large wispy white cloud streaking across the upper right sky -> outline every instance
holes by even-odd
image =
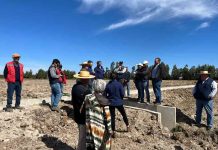
[[[123,12],[123,21],[112,23],[105,30],[137,25],[153,20],[190,17],[212,19],[218,14],[217,0],[80,0],[80,10],[102,14],[115,9]]]

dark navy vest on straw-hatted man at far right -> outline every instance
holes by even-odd
[[[194,93],[194,97],[197,100],[206,100],[209,101],[212,97],[209,97],[209,94],[212,92],[211,84],[213,79],[208,78],[203,84],[201,80],[198,80],[196,83],[196,92]]]

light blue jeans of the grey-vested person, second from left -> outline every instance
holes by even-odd
[[[51,106],[58,107],[58,103],[61,99],[61,87],[60,83],[51,84]]]

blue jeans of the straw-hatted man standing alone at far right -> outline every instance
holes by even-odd
[[[203,108],[207,113],[207,126],[213,127],[213,100],[196,100],[196,123],[201,123]]]

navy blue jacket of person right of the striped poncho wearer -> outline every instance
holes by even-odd
[[[124,89],[117,80],[112,80],[107,84],[105,95],[111,101],[111,106],[123,105]]]

